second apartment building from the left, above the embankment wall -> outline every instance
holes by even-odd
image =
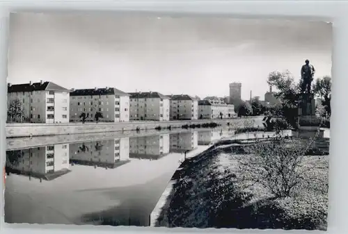
[[[81,89],[70,92],[70,122],[95,121],[97,112],[101,122],[129,122],[129,94],[115,87]]]

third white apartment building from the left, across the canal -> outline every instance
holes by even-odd
[[[131,120],[169,120],[169,98],[159,92],[131,92],[130,118]]]

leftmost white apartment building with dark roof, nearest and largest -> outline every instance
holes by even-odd
[[[69,92],[65,87],[50,81],[12,85],[8,83],[8,110],[15,101],[19,101],[24,110],[24,116],[13,119],[8,116],[8,122],[33,123],[68,123],[69,122]]]

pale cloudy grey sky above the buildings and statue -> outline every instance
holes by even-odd
[[[10,16],[8,82],[52,81],[124,92],[229,95],[264,99],[270,72],[299,79],[310,60],[331,75],[332,26],[326,22],[116,13],[17,13]]]

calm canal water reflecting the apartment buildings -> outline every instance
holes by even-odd
[[[185,152],[231,135],[214,128],[6,151],[5,222],[148,226]]]

